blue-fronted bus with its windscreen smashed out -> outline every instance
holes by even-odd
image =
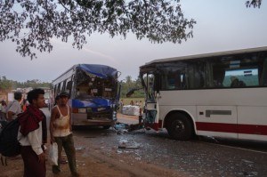
[[[118,71],[105,65],[77,64],[52,82],[53,104],[61,91],[69,93],[72,125],[109,128],[117,120]]]

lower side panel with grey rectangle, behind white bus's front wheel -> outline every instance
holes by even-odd
[[[197,134],[238,138],[236,106],[197,106]]]

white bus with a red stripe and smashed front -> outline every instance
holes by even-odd
[[[267,47],[152,60],[140,67],[144,121],[175,140],[267,140]]]

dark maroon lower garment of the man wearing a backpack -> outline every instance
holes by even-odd
[[[24,177],[45,177],[45,162],[38,161],[38,157],[31,146],[21,147],[21,157],[24,163]]]

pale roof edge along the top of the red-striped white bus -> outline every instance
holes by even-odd
[[[240,49],[235,51],[225,51],[225,52],[211,52],[211,53],[203,53],[203,54],[196,54],[196,55],[188,55],[188,56],[181,56],[181,57],[172,57],[166,59],[158,59],[158,60],[151,60],[150,62],[145,63],[144,66],[160,63],[160,62],[169,62],[174,60],[190,60],[190,59],[199,59],[199,58],[206,58],[206,57],[215,57],[215,56],[222,56],[222,55],[231,55],[231,54],[239,54],[239,53],[246,53],[246,52],[261,52],[267,51],[267,46],[263,47],[256,47],[256,48],[248,48],[248,49]]]

